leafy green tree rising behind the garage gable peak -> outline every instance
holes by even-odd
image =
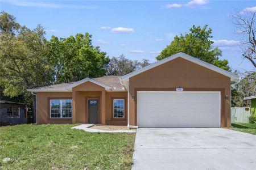
[[[208,25],[205,25],[203,28],[193,25],[189,31],[185,35],[176,35],[171,44],[167,45],[156,59],[161,60],[178,52],[183,52],[218,66],[221,69],[230,71],[228,60],[220,60],[218,58],[222,55],[221,50],[212,46],[213,41],[210,40],[213,37],[211,35],[212,29],[208,28]]]

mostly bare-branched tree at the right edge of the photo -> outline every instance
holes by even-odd
[[[241,11],[231,14],[236,33],[241,36],[240,47],[243,50],[241,57],[248,59],[256,68],[256,37],[255,37],[256,12]],[[232,88],[232,105],[248,107],[250,100],[244,97],[256,95],[256,72],[248,71],[242,74],[242,79]]]

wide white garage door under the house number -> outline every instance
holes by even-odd
[[[220,92],[138,92],[139,127],[220,127]]]

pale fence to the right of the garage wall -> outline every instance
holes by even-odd
[[[231,108],[231,122],[232,123],[249,123],[250,108]]]

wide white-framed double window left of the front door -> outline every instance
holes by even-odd
[[[50,100],[51,118],[72,118],[72,100]]]

